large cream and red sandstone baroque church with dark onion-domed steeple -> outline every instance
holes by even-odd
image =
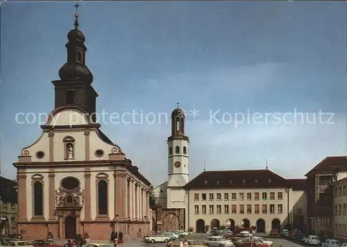
[[[36,142],[22,149],[17,168],[17,230],[25,239],[71,239],[85,233],[107,240],[148,234],[151,183],[96,123],[93,75],[86,66],[85,35],[67,38],[67,62],[53,80],[55,108]],[[181,181],[181,180],[180,180]]]

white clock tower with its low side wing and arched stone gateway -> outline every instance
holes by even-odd
[[[160,208],[153,214],[153,226],[162,231],[185,229],[186,191],[183,187],[189,182],[189,137],[185,135],[185,113],[179,104],[171,114],[167,146],[167,181],[153,189]]]

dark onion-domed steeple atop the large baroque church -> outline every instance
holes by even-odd
[[[78,13],[76,7],[75,28],[67,34],[67,62],[59,70],[60,80],[53,80],[55,90],[55,108],[74,105],[90,114],[96,121],[96,97],[98,94],[92,87],[93,75],[85,65],[85,35],[78,29]]]

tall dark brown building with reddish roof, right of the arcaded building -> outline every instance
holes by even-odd
[[[307,177],[307,226],[314,235],[333,235],[332,183],[347,177],[347,156],[325,157],[306,175]],[[321,232],[321,233],[320,233]]]

